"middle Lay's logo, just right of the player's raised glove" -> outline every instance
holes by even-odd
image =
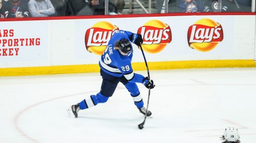
[[[164,47],[171,43],[172,32],[168,24],[159,20],[150,20],[138,29],[143,37],[142,48],[148,53],[159,53]]]

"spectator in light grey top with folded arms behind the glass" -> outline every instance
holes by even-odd
[[[28,10],[32,17],[48,17],[55,13],[50,0],[29,0]]]

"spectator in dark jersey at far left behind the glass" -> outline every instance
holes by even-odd
[[[3,12],[5,18],[29,17],[28,3],[26,0],[3,1]]]

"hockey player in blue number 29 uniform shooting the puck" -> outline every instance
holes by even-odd
[[[149,77],[144,77],[141,74],[133,72],[131,67],[133,55],[131,42],[139,46],[143,43],[142,36],[124,30],[114,32],[99,60],[100,72],[103,79],[101,92],[86,97],[81,102],[67,109],[71,117],[77,118],[77,113],[81,109],[96,106],[98,103],[105,103],[114,94],[119,82],[123,83],[130,92],[139,112],[146,115],[147,109],[143,107],[144,103],[136,83],[142,83],[150,89],[154,88],[154,84],[152,80],[149,80]],[[150,115],[151,112],[148,111],[147,116]]]

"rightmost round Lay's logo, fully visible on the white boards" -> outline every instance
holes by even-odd
[[[211,19],[201,19],[188,28],[187,42],[198,51],[214,49],[224,38],[222,27]]]

